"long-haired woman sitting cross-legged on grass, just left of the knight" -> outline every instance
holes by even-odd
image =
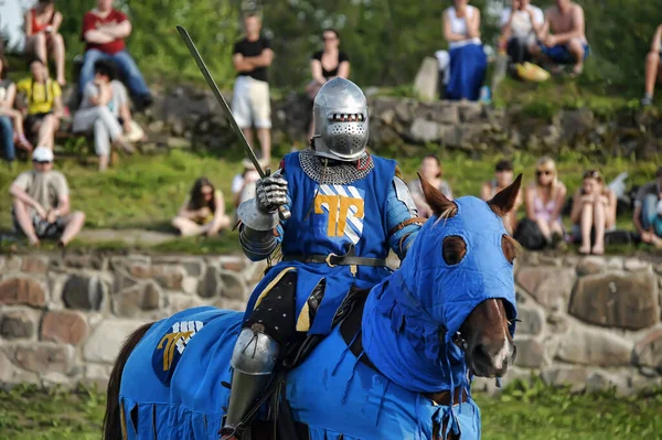
[[[184,237],[203,234],[211,237],[229,226],[221,191],[215,190],[207,178],[197,179],[191,195],[172,219],[172,226]]]

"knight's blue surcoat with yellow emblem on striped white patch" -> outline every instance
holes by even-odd
[[[387,257],[388,232],[393,227],[387,212],[394,197],[391,190],[396,162],[375,155],[372,160],[374,169],[365,178],[341,185],[319,184],[310,179],[301,168],[299,152],[285,157],[284,175],[289,186],[291,217],[282,225],[284,256],[345,255],[351,246],[356,257]],[[410,216],[405,207],[397,223]],[[410,227],[418,229],[415,225]],[[386,267],[359,266],[353,269],[350,266],[330,267],[323,262],[281,261],[270,268],[254,289],[246,308],[246,319],[259,303],[260,296],[269,291],[285,270],[298,272],[297,330],[310,334],[329,334],[333,316],[352,287],[370,289],[392,272]],[[306,312],[307,301],[322,280],[325,282],[324,297],[311,323]]]

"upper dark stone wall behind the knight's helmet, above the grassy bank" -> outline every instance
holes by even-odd
[[[370,90],[367,90],[370,92]],[[227,99],[231,97],[227,96]],[[229,101],[229,100],[228,100]],[[471,152],[516,150],[557,153],[572,148],[588,155],[653,157],[662,150],[662,119],[654,111],[558,110],[512,107],[494,109],[478,103],[370,97],[371,144],[375,151],[425,143]],[[289,94],[271,103],[275,143],[306,143],[311,103]],[[602,111],[605,114],[605,111]],[[161,94],[147,124],[150,139],[171,148],[192,144],[221,151],[236,144],[211,92],[178,87]],[[423,150],[419,152],[428,152]]]

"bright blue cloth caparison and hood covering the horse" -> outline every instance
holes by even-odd
[[[286,396],[310,439],[433,439],[441,426],[442,438],[480,439],[471,373],[452,337],[488,299],[501,299],[515,318],[513,266],[501,246],[508,232],[488,203],[467,196],[455,204],[455,215],[426,222],[401,268],[367,296],[362,355],[378,372],[352,354],[337,328],[289,373]],[[441,251],[450,236],[466,244],[455,265]],[[121,375],[128,439],[218,440],[242,316],[203,307],[150,328]],[[466,403],[437,406],[423,395],[458,386],[469,394]]]

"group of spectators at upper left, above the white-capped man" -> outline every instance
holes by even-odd
[[[62,21],[55,0],[39,0],[25,12],[24,56],[30,76],[17,84],[9,79],[9,64],[0,51],[0,147],[10,164],[17,149],[28,155],[33,146],[52,150],[55,135],[68,114],[62,89],[66,85]],[[85,42],[85,54],[72,130],[93,139],[99,171],[108,165],[111,146],[130,153],[134,148],[129,141],[143,138],[132,120],[130,104],[140,111],[152,103],[151,93],[126,49],[125,39],[130,33],[130,21],[113,7],[113,0],[97,0],[96,8],[83,18],[81,39]],[[50,62],[55,66],[55,78]]]

